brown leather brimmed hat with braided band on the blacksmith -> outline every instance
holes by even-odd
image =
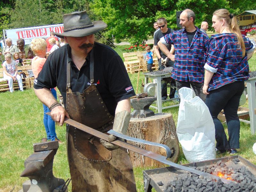
[[[63,15],[63,33],[53,33],[57,37],[82,37],[92,35],[105,29],[108,25],[103,21],[93,21],[86,11],[72,12]]]

